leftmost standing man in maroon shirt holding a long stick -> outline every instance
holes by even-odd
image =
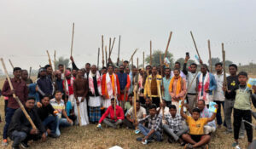
[[[11,90],[9,86],[8,80],[6,80],[3,84],[2,95],[7,96],[9,98],[9,103],[6,109],[6,116],[5,116],[5,125],[3,128],[3,146],[8,145],[7,141],[7,131],[9,128],[9,123],[11,118],[13,117],[16,109],[20,108],[18,102],[15,100],[13,94],[17,95],[20,99],[20,102],[24,105],[27,99],[28,91],[26,87],[26,83],[20,79],[21,75],[21,68],[15,67],[14,68],[14,78],[11,78],[11,83],[13,84],[14,89]]]

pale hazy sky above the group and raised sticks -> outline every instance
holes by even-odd
[[[138,48],[135,57],[142,62],[149,41],[164,51],[171,31],[169,51],[175,60],[185,52],[195,59],[192,31],[204,61],[210,39],[212,57],[221,56],[224,42],[226,59],[246,64],[255,56],[255,8],[255,0],[0,0],[0,56],[26,69],[47,64],[46,49],[52,59],[54,50],[57,57],[69,58],[74,22],[73,57],[79,67],[96,64],[102,35],[106,45],[109,37],[121,35],[120,60],[130,59]],[[114,61],[117,53],[118,40]]]

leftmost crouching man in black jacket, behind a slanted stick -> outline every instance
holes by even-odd
[[[9,124],[8,135],[11,140],[14,140],[12,147],[19,149],[20,145],[23,148],[27,148],[28,140],[38,140],[42,138],[43,141],[46,139],[46,131],[44,124],[38,117],[38,113],[33,109],[35,105],[35,99],[29,97],[25,103],[25,109],[27,114],[31,117],[32,122],[36,125],[37,129],[32,129],[31,123],[27,120],[25,114],[19,108],[15,111],[14,116]]]

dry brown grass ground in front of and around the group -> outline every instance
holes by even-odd
[[[0,80],[0,87],[3,87],[3,79]],[[3,112],[3,97],[0,100],[0,113],[3,122],[0,123],[0,139],[2,140],[3,125],[4,125],[4,112]],[[253,120],[255,123],[255,120]],[[229,149],[232,148],[233,135],[225,135],[224,127],[218,129],[216,135],[212,138],[210,148],[212,149]],[[58,139],[48,138],[46,142],[32,142],[30,148],[85,148],[85,149],[103,149],[111,146],[121,146],[123,148],[183,148],[176,143],[170,144],[167,142],[166,137],[163,142],[153,142],[148,145],[143,145],[141,142],[137,142],[136,138],[141,135],[135,135],[134,131],[130,129],[106,129],[103,127],[102,131],[96,129],[96,125],[90,124],[85,127],[70,127],[61,129],[61,137]],[[253,132],[254,139],[256,136],[255,131]],[[243,140],[239,140],[241,148],[246,148],[247,137]],[[7,147],[10,148],[10,144]]]

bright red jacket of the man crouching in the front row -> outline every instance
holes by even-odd
[[[123,109],[122,109],[122,107],[121,106],[115,106],[115,108],[116,108],[116,117],[117,117],[117,119],[116,120],[118,120],[118,119],[125,119],[125,115],[124,115],[124,112],[123,112]],[[110,115],[110,119],[114,119],[113,117],[114,117],[114,110],[113,110],[113,107],[112,106],[108,106],[108,109],[107,109],[107,111],[102,115],[102,117],[101,117],[101,119],[100,119],[100,121],[99,121],[99,123],[102,123],[102,121],[106,118],[106,117],[108,117],[108,115]],[[115,120],[115,121],[116,121]]]

